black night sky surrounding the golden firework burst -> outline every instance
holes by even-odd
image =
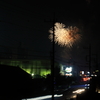
[[[24,1],[0,0],[0,51],[20,46],[49,55],[52,43],[48,30],[55,19],[67,26],[77,26],[82,39],[72,48],[55,44],[57,58],[86,64],[87,48],[100,55],[99,0]],[[55,16],[54,16],[55,14]],[[44,52],[44,53],[43,53]],[[59,56],[59,57],[58,57]]]

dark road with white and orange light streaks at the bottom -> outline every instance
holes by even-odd
[[[85,88],[85,85],[73,85],[70,87],[70,89],[64,91],[63,93],[59,95],[54,95],[54,100],[69,100],[70,98],[76,98],[76,95],[78,92],[83,92]],[[27,98],[22,100],[52,100],[51,95],[41,96],[41,97],[35,97],[35,98]]]

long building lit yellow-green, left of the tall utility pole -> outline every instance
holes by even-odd
[[[51,62],[49,60],[12,60],[5,59],[0,61],[0,64],[19,66],[27,73],[31,74],[32,77],[35,75],[45,76],[51,73]]]

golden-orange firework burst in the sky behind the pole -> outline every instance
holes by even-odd
[[[53,28],[49,30],[51,33],[49,39],[53,41]],[[58,43],[60,46],[71,47],[74,43],[78,42],[81,39],[81,35],[78,34],[79,29],[77,27],[68,27],[66,28],[62,23],[55,23],[54,25],[54,35],[55,43]]]

